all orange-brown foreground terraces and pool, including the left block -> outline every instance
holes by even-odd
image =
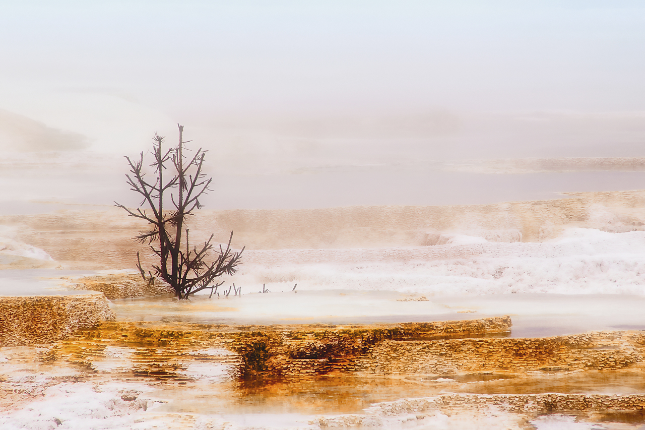
[[[517,338],[508,316],[263,325],[106,321],[114,315],[100,304],[85,320],[66,312],[79,298],[101,303],[97,296],[0,300],[7,320],[33,322],[0,327],[2,409],[59,384],[117,384],[115,402],[129,413],[183,426],[204,414],[266,411],[305,414],[321,429],[391,428],[401,414],[419,424],[437,413],[479,419],[491,407],[524,424],[554,413],[639,422],[645,411],[642,331]]]

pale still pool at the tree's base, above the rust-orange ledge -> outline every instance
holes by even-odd
[[[225,299],[195,296],[113,300],[120,320],[226,323],[398,323],[467,320],[510,315],[511,336],[542,337],[610,329],[645,329],[645,296],[627,294],[488,294],[433,296],[352,290],[243,294]]]

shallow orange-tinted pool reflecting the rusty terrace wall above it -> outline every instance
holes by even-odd
[[[413,377],[330,374],[298,382],[171,384],[160,386],[153,394],[161,399],[172,400],[159,409],[166,412],[335,415],[361,413],[374,403],[443,393],[633,394],[644,391],[645,374],[631,370],[539,372],[531,375],[497,372]],[[606,420],[619,421],[619,416],[609,413],[606,415]],[[623,418],[636,422],[641,416],[626,413]]]

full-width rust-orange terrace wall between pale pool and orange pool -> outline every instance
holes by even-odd
[[[134,351],[134,376],[179,380],[183,376],[178,370],[187,354],[219,348],[230,352],[226,362],[234,367],[235,376],[247,381],[295,380],[334,373],[526,373],[642,365],[645,335],[640,332],[499,337],[510,329],[510,323],[508,317],[390,326],[103,322],[59,341],[42,359],[92,368],[93,359],[101,358],[106,347],[126,347]],[[481,337],[487,335],[491,337]]]

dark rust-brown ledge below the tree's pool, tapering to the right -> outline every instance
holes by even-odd
[[[301,378],[333,371],[355,371],[359,358],[387,340],[499,334],[510,318],[398,325],[222,325],[102,322],[81,329],[43,354],[43,360],[66,360],[92,367],[107,346],[135,351],[134,374],[173,377],[185,354],[221,348],[235,354],[236,374],[243,379]],[[147,366],[147,367],[146,367]]]

